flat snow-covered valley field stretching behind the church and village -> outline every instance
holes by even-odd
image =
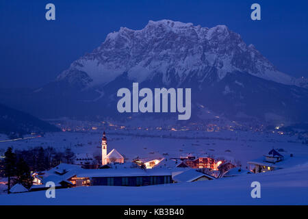
[[[256,159],[271,149],[283,149],[294,156],[308,157],[308,146],[301,144],[296,136],[265,134],[250,131],[149,131],[148,134],[161,137],[140,137],[129,135],[127,131],[118,134],[106,133],[107,151],[116,149],[128,159],[139,157],[179,157],[187,153],[215,155],[225,159],[235,159],[246,168],[246,162]],[[136,132],[140,133],[140,131]],[[13,142],[0,142],[0,150],[8,146],[14,149],[27,149],[34,146],[53,146],[64,150],[70,147],[75,153],[91,153],[100,155],[102,133],[60,132],[47,133],[44,137]],[[187,139],[185,139],[187,138]],[[0,140],[5,140],[4,135]],[[168,153],[168,155],[163,155]]]

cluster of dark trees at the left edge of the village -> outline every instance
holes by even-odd
[[[31,171],[49,170],[61,164],[61,162],[73,164],[74,157],[75,154],[71,149],[60,152],[51,146],[46,149],[38,146],[29,150],[13,152],[12,148],[9,147],[1,165],[4,176],[8,177],[8,193],[10,193],[11,185],[16,183],[21,183],[29,189],[32,185]]]

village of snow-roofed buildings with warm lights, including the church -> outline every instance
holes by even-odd
[[[101,145],[91,145],[100,151],[101,157],[90,153],[76,153],[73,162],[62,162],[49,170],[31,172],[30,188],[16,183],[10,193],[36,192],[47,190],[47,183],[53,182],[55,189],[107,186],[151,186],[172,183],[192,183],[196,181],[218,181],[229,177],[270,172],[305,164],[307,157],[287,153],[284,149],[270,149],[264,155],[240,164],[234,159],[218,157],[206,153],[149,153],[127,159],[117,149],[110,149],[105,131]],[[246,166],[246,168],[245,168]],[[1,184],[6,185],[5,178]]]

